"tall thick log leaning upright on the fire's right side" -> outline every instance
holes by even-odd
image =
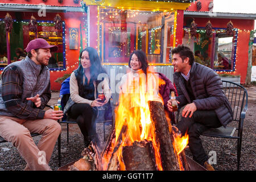
[[[168,123],[161,102],[148,101],[151,120],[155,125],[156,142],[159,143],[160,160],[164,171],[178,171],[179,162],[174,153]]]

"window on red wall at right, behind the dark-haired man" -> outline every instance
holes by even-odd
[[[183,44],[195,53],[195,61],[216,71],[234,71],[236,62],[237,30],[233,36],[225,28],[214,28],[208,36],[204,27],[197,28],[197,34],[191,38],[189,28],[184,28]]]

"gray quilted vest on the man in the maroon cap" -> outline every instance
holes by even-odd
[[[33,106],[32,101],[27,101],[27,97],[34,97],[36,94],[41,95],[46,92],[47,85],[50,81],[49,68],[46,66],[43,67],[41,65],[36,64],[32,61],[28,56],[21,61],[16,61],[11,63],[3,69],[3,73],[10,66],[15,65],[19,68],[20,72],[22,72],[23,83],[22,83],[22,102],[26,103],[30,106]],[[2,73],[2,74],[3,74]],[[8,111],[5,107],[2,98],[2,80],[0,81],[0,115],[9,115],[15,117],[10,111]]]

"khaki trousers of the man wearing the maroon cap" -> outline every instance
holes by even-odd
[[[24,170],[51,171],[48,163],[60,131],[60,124],[53,119],[27,120],[0,115],[0,135],[12,142],[27,162]],[[38,146],[30,133],[42,134]]]

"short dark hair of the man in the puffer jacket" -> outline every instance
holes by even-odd
[[[188,57],[190,65],[192,65],[195,62],[194,53],[191,51],[189,47],[184,46],[183,44],[172,49],[172,55],[174,55],[175,53],[178,53],[180,55],[182,61],[184,61],[184,59]]]

